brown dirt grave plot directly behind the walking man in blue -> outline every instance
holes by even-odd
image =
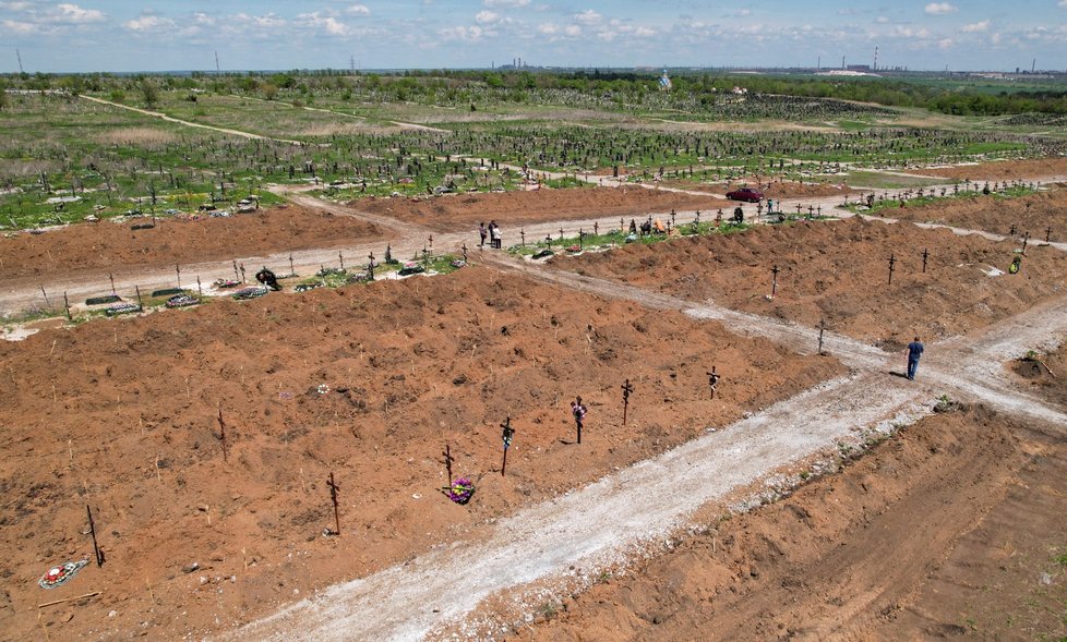
[[[1016,246],[853,218],[760,226],[550,261],[808,327],[825,319],[829,329],[894,350],[916,334],[924,340],[964,334],[1062,294],[1067,256],[1051,247],[1028,250],[1018,275],[987,276],[993,268],[1007,271]],[[924,250],[930,252],[926,274]],[[896,258],[891,286],[890,256]],[[778,291],[770,300],[775,265]]]

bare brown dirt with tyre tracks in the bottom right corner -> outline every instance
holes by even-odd
[[[1065,533],[1062,426],[933,415],[508,639],[1063,640]]]

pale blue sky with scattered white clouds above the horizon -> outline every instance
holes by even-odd
[[[0,73],[1067,70],[1067,0],[0,0]]]

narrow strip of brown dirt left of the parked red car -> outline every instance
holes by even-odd
[[[495,220],[502,228],[553,220],[636,216],[674,209],[722,207],[722,201],[643,187],[582,187],[500,194],[448,194],[435,198],[365,198],[356,209],[417,222],[442,232],[477,229]]]

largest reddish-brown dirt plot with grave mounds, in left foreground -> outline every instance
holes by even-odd
[[[711,402],[712,361],[750,384],[720,386]],[[477,538],[494,518],[842,372],[678,313],[483,268],[95,320],[0,342],[0,363],[3,640],[227,629]],[[580,446],[575,395],[589,408]],[[477,485],[467,507],[440,493],[446,445],[455,476]],[[331,473],[340,537],[322,535],[334,528]],[[86,505],[107,562],[39,589],[52,565],[92,553]],[[37,604],[92,591],[104,593],[37,619]]]

